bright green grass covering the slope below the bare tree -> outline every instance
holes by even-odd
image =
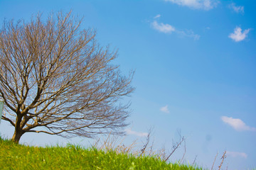
[[[82,148],[29,147],[0,138],[0,169],[172,169],[199,170],[185,164],[171,164],[156,157],[135,157],[133,154]],[[202,170],[202,169],[201,169]]]

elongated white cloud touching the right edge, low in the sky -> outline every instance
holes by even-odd
[[[238,131],[250,130],[250,131],[256,132],[256,128],[251,128],[250,126],[245,125],[245,123],[238,118],[232,118],[232,117],[229,118],[227,116],[221,116],[221,120],[223,120],[224,123],[227,123],[235,130],[238,130]]]

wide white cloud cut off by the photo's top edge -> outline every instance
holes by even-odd
[[[217,0],[165,0],[165,1],[171,1],[174,4],[178,4],[181,6],[188,6],[190,8],[202,8],[204,10],[209,10],[211,8],[214,8],[217,6],[218,1]]]

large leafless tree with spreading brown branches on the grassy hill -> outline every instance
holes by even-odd
[[[26,132],[92,137],[121,133],[134,89],[111,64],[117,52],[100,47],[94,30],[82,30],[70,13],[41,14],[31,21],[5,21],[0,30],[0,99],[3,120]]]

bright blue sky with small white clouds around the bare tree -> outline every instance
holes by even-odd
[[[119,49],[123,74],[135,69],[136,91],[127,142],[153,127],[156,148],[171,150],[177,130],[186,137],[186,162],[211,168],[227,151],[224,169],[256,167],[255,1],[16,1],[0,0],[4,18],[73,10],[82,28],[95,28],[100,45]],[[14,129],[1,121],[1,135]],[[27,134],[29,145],[87,142],[86,138]],[[181,159],[183,147],[171,157]],[[217,166],[216,166],[217,168]]]

